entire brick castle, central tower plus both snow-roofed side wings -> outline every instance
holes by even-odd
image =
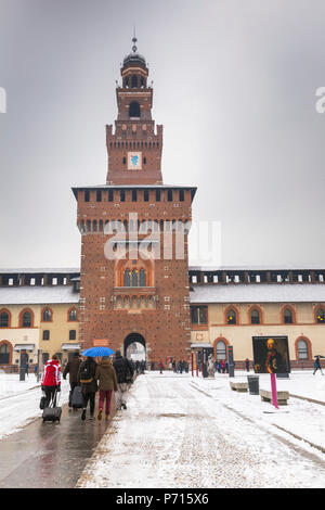
[[[164,182],[162,126],[136,39],[106,126],[106,182],[73,188],[80,268],[0,269],[0,369],[20,353],[30,365],[53,354],[134,344],[148,362],[191,360],[210,349],[236,368],[252,359],[252,337],[286,335],[291,367],[325,356],[325,269],[188,267],[196,188]]]

